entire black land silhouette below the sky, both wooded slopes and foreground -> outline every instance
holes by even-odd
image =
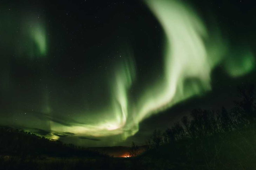
[[[155,130],[144,151],[127,158],[0,128],[1,169],[256,169],[255,87],[238,88],[230,110],[194,109],[171,128]]]

